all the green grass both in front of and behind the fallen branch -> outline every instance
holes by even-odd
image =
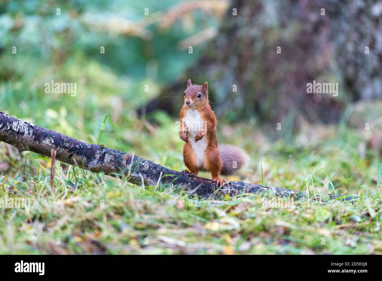
[[[161,130],[170,129],[158,126],[156,130],[161,135]],[[249,128],[243,124],[232,130],[244,133]],[[150,141],[146,134],[142,132],[142,148],[136,155],[172,169],[183,168],[180,140],[170,136],[167,142],[175,149],[165,151],[164,142]],[[76,169],[79,188],[71,193],[66,184],[74,182],[70,166],[56,162],[51,188],[50,159],[5,145],[0,153],[10,168],[0,179],[0,197],[5,192],[18,197],[30,194],[32,208],[0,208],[0,253],[382,253],[379,166],[369,164],[378,159],[361,159],[354,146],[346,145],[343,140],[356,134],[348,129],[331,140],[316,135],[317,140],[306,147],[299,146],[297,139],[293,145],[279,140],[258,146],[253,138],[259,130],[239,140],[220,135],[226,142],[241,143],[251,156],[249,166],[232,180],[311,194],[361,195],[354,202],[293,201],[293,208],[264,204],[267,194],[204,200],[173,188],[142,188],[81,169]],[[113,137],[110,132],[108,138]]]

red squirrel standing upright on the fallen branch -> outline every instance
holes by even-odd
[[[217,144],[216,117],[208,100],[208,83],[202,86],[187,81],[184,104],[180,110],[179,136],[185,141],[183,161],[185,174],[196,176],[199,171],[210,171],[216,186],[225,180],[219,175],[231,175],[246,161],[244,151],[232,145]]]

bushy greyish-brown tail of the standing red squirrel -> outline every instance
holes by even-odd
[[[244,166],[248,160],[243,149],[233,145],[219,145],[220,159],[223,161],[222,175],[232,175]]]

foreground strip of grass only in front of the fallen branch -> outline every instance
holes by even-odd
[[[80,181],[72,194],[65,185],[51,190],[47,180],[26,187],[29,213],[1,211],[0,253],[382,252],[379,197],[301,201],[288,210],[262,206],[259,195],[197,200],[90,172]]]

